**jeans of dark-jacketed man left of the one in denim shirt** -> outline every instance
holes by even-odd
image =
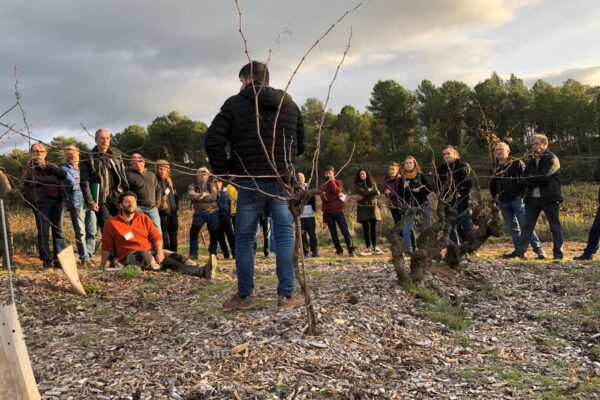
[[[62,201],[46,198],[35,216],[40,259],[44,262],[44,266],[58,265],[58,253],[65,248],[65,238],[62,232]],[[52,232],[52,253],[50,252],[50,231]]]

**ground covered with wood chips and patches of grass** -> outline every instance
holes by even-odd
[[[404,287],[389,255],[309,259],[314,337],[276,308],[272,258],[249,312],[221,311],[232,261],[210,282],[82,270],[81,298],[17,257],[15,294],[45,399],[599,399],[600,264],[502,251]]]

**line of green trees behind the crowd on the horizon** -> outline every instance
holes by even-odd
[[[494,72],[474,87],[455,80],[440,86],[423,80],[416,90],[380,80],[366,111],[346,105],[336,114],[324,110],[317,98],[307,99],[301,109],[307,152],[299,169],[304,171],[310,170],[321,123],[321,167],[343,165],[353,149],[353,166],[379,167],[407,154],[431,160],[446,144],[483,160],[487,143],[482,129],[510,142],[515,153],[523,152],[536,132],[545,133],[555,149],[572,155],[592,156],[600,147],[600,86],[573,79],[560,86],[538,80],[529,88],[515,75],[504,80]],[[206,130],[204,122],[172,111],[147,127],[130,125],[115,133],[113,146],[125,154],[139,152],[151,160],[165,158],[197,167],[206,163]],[[66,144],[89,151],[74,137],[58,136],[50,144],[51,162],[61,161],[59,149]],[[0,166],[18,176],[26,157],[25,150],[14,149],[0,155]]]

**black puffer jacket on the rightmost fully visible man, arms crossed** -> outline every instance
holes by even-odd
[[[524,200],[527,201],[533,189],[540,188],[540,199],[543,202],[562,201],[560,189],[560,162],[550,150],[546,150],[536,165],[535,158],[525,163],[525,172],[519,179],[519,185],[527,189]]]

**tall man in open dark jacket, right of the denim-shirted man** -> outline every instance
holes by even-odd
[[[79,162],[81,190],[85,202],[96,213],[100,229],[119,213],[119,197],[129,190],[123,158],[110,147],[110,139],[106,129],[98,129],[94,136],[96,146]]]

